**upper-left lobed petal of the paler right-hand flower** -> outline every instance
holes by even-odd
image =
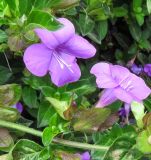
[[[96,83],[99,88],[114,88],[118,86],[111,76],[110,64],[97,63],[90,72],[96,76]]]

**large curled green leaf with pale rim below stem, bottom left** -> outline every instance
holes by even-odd
[[[19,140],[9,153],[10,158],[13,160],[40,160],[39,155],[42,147],[30,140]],[[47,159],[42,159],[47,160]]]

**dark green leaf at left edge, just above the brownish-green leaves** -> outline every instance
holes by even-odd
[[[12,72],[4,66],[0,66],[0,85],[7,82],[12,76]]]

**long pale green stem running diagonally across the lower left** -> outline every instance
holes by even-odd
[[[25,133],[32,134],[34,136],[42,137],[42,132],[35,130],[33,128],[29,128],[20,124],[0,120],[0,126],[5,128],[16,129]],[[92,145],[87,143],[74,142],[69,140],[64,140],[61,138],[54,138],[52,140],[53,143],[61,144],[68,147],[81,148],[86,150],[108,150],[109,147],[100,146],[100,145]]]

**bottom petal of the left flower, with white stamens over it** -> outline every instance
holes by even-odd
[[[81,76],[81,71],[75,57],[64,53],[53,55],[49,70],[52,82],[58,87],[75,82]]]

